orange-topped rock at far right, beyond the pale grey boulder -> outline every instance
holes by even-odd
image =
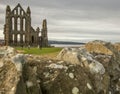
[[[120,44],[93,41],[86,44],[86,49],[105,67],[109,79],[109,90],[112,94],[120,93]],[[119,89],[118,89],[119,88]]]

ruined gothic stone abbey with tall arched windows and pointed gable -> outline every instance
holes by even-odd
[[[40,34],[41,33],[41,34]],[[39,36],[41,35],[41,36]],[[48,46],[47,21],[43,20],[42,29],[31,26],[31,10],[26,11],[18,4],[13,10],[8,5],[4,25],[4,40],[6,46]]]

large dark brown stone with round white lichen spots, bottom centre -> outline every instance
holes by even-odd
[[[90,73],[80,65],[60,61],[45,61],[44,63],[29,63],[38,66],[38,78],[41,79],[43,94],[96,94],[95,87],[90,81]],[[91,89],[88,88],[90,84]]]

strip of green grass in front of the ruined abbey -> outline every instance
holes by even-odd
[[[50,53],[57,53],[60,52],[62,48],[58,48],[58,47],[51,47],[51,48],[21,48],[21,47],[16,47],[16,50],[21,50],[23,51],[24,54],[35,54],[35,55],[45,55],[45,54],[50,54]]]

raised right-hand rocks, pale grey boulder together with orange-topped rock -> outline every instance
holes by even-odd
[[[92,41],[80,48],[64,48],[57,56],[70,64],[77,64],[94,74],[94,83],[102,94],[120,93],[120,45]],[[72,58],[71,58],[72,57]],[[75,62],[74,62],[75,60]],[[100,93],[101,94],[101,93]]]

